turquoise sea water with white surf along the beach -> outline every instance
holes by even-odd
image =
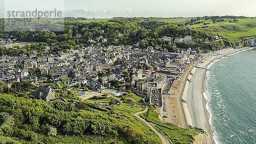
[[[256,144],[256,48],[211,63],[204,93],[216,144]]]

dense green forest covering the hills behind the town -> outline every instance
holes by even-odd
[[[0,25],[3,25],[4,22],[3,20],[1,21],[2,23]],[[47,19],[33,23],[35,26],[38,26],[38,23],[46,22]],[[47,47],[50,48],[48,52],[56,54],[60,51],[65,52],[67,49],[77,49],[81,46],[89,46],[91,44],[96,45],[96,43],[90,43],[89,39],[95,39],[99,36],[108,40],[108,42],[102,43],[102,46],[134,45],[140,42],[139,47],[142,49],[148,46],[162,45],[162,48],[172,51],[173,42],[162,40],[161,38],[163,36],[184,37],[191,35],[198,43],[203,43],[204,39],[211,39],[215,33],[214,30],[186,29],[183,27],[184,24],[149,21],[143,18],[124,19],[120,17],[108,20],[108,22],[84,23],[79,18],[67,18],[64,20],[63,31],[53,32],[44,30],[37,32],[32,27],[27,28],[29,31],[0,31],[0,38],[3,39],[17,38],[16,41],[19,42],[37,42],[22,48],[20,46],[15,46],[15,49],[0,48],[0,55],[14,56],[23,53],[30,55],[31,50],[44,52]],[[81,34],[82,37],[77,38],[76,34]],[[122,36],[117,37],[117,34],[122,34]],[[186,49],[189,47],[193,48],[194,46],[188,45],[182,48]]]

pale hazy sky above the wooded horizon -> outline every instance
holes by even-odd
[[[256,0],[0,0],[0,17],[8,11],[54,10],[65,17],[256,16]]]

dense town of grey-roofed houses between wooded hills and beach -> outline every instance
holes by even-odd
[[[163,39],[173,40],[171,37]],[[192,42],[192,37],[186,36],[182,40]],[[11,47],[11,40],[6,40],[4,45]],[[0,59],[0,80],[9,87],[13,81],[31,82],[35,86],[52,81],[56,85],[70,87],[81,85],[96,92],[102,89],[130,90],[143,97],[146,104],[157,107],[163,115],[163,95],[168,94],[173,81],[181,77],[190,63],[200,60],[201,52],[200,49],[177,49],[176,45],[173,46],[176,52],[160,49],[159,45],[146,49],[92,45],[57,55],[38,56],[34,50],[29,56],[3,55]],[[45,101],[55,99],[52,96],[42,98],[40,92],[35,97]]]

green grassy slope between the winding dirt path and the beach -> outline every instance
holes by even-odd
[[[154,107],[151,107],[148,113],[143,113],[140,115],[142,118],[147,119],[150,122],[157,124],[155,127],[157,130],[160,130],[161,133],[166,135],[174,144],[189,144],[193,143],[194,138],[198,132],[203,132],[202,130],[198,130],[196,128],[189,128],[189,130],[175,127],[169,124],[163,124],[158,120],[158,113]]]

